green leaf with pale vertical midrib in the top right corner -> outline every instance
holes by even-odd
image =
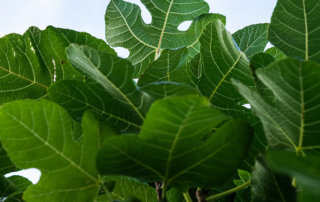
[[[318,0],[279,0],[268,39],[288,56],[320,62],[320,4]]]

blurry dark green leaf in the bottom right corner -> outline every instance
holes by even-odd
[[[297,157],[286,151],[270,151],[268,163],[277,172],[294,177],[298,186],[299,201],[313,202],[320,199],[320,158],[319,155]]]

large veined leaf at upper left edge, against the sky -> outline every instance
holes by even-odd
[[[114,51],[87,33],[48,27],[31,27],[23,35],[0,39],[0,104],[16,99],[46,97],[54,81],[78,77],[68,62],[65,48],[70,43],[87,44],[101,51]]]

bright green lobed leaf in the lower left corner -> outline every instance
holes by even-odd
[[[40,181],[24,193],[27,201],[93,201],[99,190],[95,156],[103,137],[92,113],[82,120],[81,143],[72,119],[52,102],[15,101],[0,109],[0,138],[17,167],[38,168]]]

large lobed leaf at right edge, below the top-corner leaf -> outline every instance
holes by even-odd
[[[261,119],[269,145],[296,152],[319,149],[320,65],[285,59],[256,73],[274,94],[273,104],[235,83]]]

